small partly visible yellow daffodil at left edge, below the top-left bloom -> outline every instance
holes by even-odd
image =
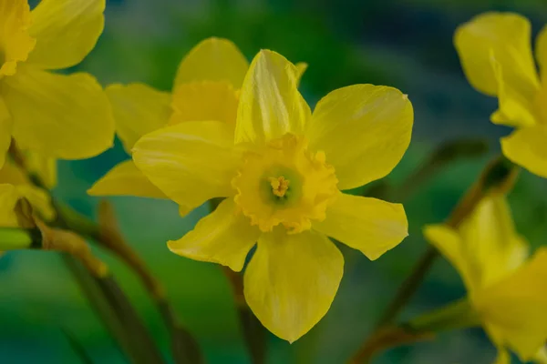
[[[46,221],[55,217],[51,199],[46,191],[35,187],[26,174],[7,160],[0,168],[0,227],[18,227],[15,204],[26,198],[36,213]]]

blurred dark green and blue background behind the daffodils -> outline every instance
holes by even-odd
[[[452,46],[456,26],[488,10],[528,16],[534,35],[547,24],[545,0],[108,0],[105,33],[77,66],[103,85],[140,81],[169,90],[181,57],[201,39],[216,35],[232,39],[248,58],[270,48],[294,62],[307,62],[302,91],[312,106],[327,92],[356,83],[396,86],[408,94],[415,109],[413,142],[387,177],[395,186],[446,141],[480,136],[490,145],[490,156],[450,165],[405,201],[410,237],[399,247],[375,262],[342,248],[346,271],[333,307],[293,345],[269,337],[269,363],[345,362],[425,250],[420,227],[447,217],[488,157],[499,152],[498,138],[510,130],[490,124],[496,100],[469,86]],[[102,156],[60,162],[55,195],[94,217],[98,199],[87,197],[86,189],[127,158],[117,142]],[[547,236],[546,189],[544,180],[523,173],[510,196],[518,230],[534,247]],[[169,202],[111,201],[123,233],[167,287],[207,361],[249,363],[232,292],[219,267],[180,258],[165,246],[191,229],[207,208],[181,219]],[[116,259],[99,254],[167,355],[167,332],[139,281]],[[79,362],[62,329],[84,345],[94,362],[126,362],[55,254],[6,254],[0,259],[0,287],[1,363]],[[403,318],[464,294],[455,270],[439,259]],[[490,363],[494,355],[482,330],[468,329],[391,350],[375,362],[480,364]]]

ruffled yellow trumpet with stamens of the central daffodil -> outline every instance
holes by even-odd
[[[338,180],[323,152],[311,152],[302,136],[287,134],[265,147],[248,150],[233,178],[235,201],[251,224],[262,231],[283,225],[289,233],[325,219]]]

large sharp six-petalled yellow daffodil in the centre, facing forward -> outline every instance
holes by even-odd
[[[235,128],[187,121],[143,136],[133,160],[181,205],[226,197],[169,248],[235,271],[257,249],[244,294],[263,325],[294,341],[330,307],[344,258],[335,238],[376,259],[408,234],[401,205],[346,195],[386,176],[410,141],[408,97],[387,86],[340,88],[310,107],[299,71],[261,51],[241,90]]]

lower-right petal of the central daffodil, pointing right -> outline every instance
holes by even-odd
[[[408,236],[405,209],[376,198],[340,194],[326,209],[326,218],[315,222],[317,231],[360,250],[375,260]]]

